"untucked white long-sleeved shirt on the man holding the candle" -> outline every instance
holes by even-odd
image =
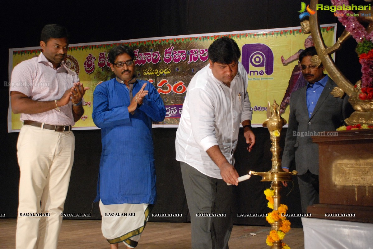
[[[176,160],[185,162],[210,177],[222,179],[219,167],[207,149],[219,145],[225,158],[234,164],[239,124],[252,119],[247,93],[247,72],[239,63],[231,87],[217,80],[209,65],[192,78],[186,92],[176,132]]]

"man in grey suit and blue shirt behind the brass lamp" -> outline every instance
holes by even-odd
[[[337,85],[323,73],[322,64],[311,62],[314,55],[316,49],[309,47],[299,56],[308,84],[290,96],[289,127],[282,155],[282,169],[287,172],[295,159],[303,213],[307,206],[319,203],[319,147],[311,136],[328,135],[327,131],[344,125],[344,119],[353,111],[347,95],[339,98],[330,94]]]

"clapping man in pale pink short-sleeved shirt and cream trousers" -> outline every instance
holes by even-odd
[[[17,142],[20,168],[16,248],[57,248],[61,213],[74,160],[71,126],[84,113],[84,87],[66,67],[69,35],[52,24],[41,31],[43,52],[12,72],[11,105],[21,113]]]

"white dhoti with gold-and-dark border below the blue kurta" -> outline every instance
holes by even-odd
[[[101,230],[110,244],[123,242],[135,248],[149,218],[149,204],[104,205],[100,200]]]

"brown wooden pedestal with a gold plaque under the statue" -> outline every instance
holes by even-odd
[[[320,204],[307,213],[373,223],[373,129],[325,132],[312,140],[319,144]]]

